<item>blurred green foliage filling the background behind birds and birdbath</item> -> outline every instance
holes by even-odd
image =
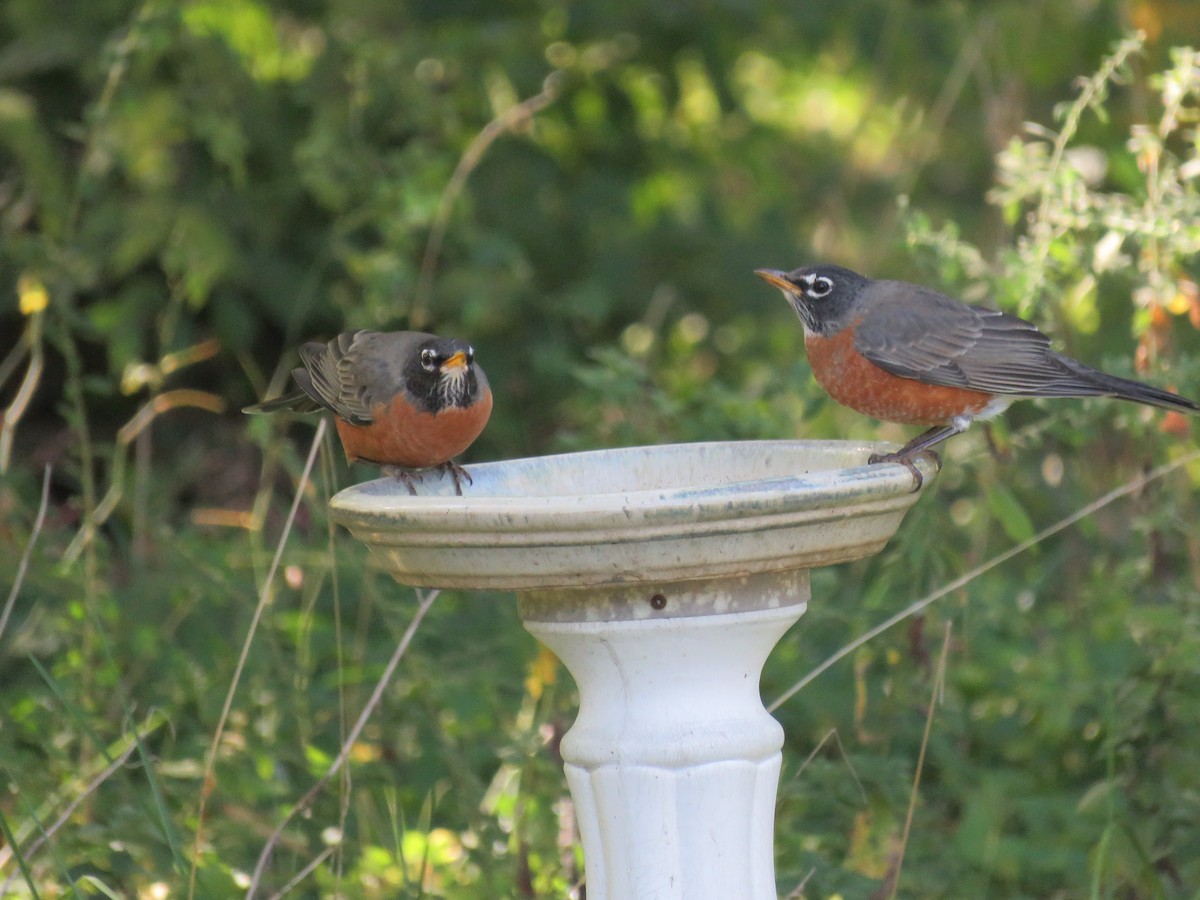
[[[827,401],[750,275],[824,258],[1200,395],[1200,34],[1134,12],[1145,43],[1117,41],[1116,0],[0,6],[5,546],[53,466],[0,634],[0,878],[236,895],[336,757],[413,604],[329,526],[370,470],[326,448],[204,781],[302,469],[283,425],[232,410],[301,338],[420,307],[469,336],[497,386],[473,458],[899,438]],[[1189,434],[1097,401],[955,439],[882,554],[814,574],[764,695]],[[1190,896],[1198,480],[1105,508],[782,704],[780,892],[894,874],[950,623],[899,895]],[[568,895],[574,703],[511,598],[443,595],[264,884],[317,860],[298,893]]]

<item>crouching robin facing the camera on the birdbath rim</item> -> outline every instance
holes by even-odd
[[[492,390],[466,341],[420,331],[349,331],[300,347],[295,394],[244,413],[330,410],[346,458],[373,462],[415,494],[413,469],[438,467],[462,493],[454,462],[487,424]]]

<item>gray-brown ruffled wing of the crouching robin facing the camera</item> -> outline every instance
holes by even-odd
[[[325,409],[352,425],[370,425],[372,408],[404,389],[412,354],[431,338],[420,331],[348,331],[329,343],[301,346],[304,368],[293,376]]]

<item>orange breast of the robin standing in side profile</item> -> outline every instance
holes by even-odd
[[[832,337],[805,335],[812,374],[842,406],[901,425],[946,425],[956,415],[976,415],[992,394],[925,384],[880,368],[854,348],[853,326]]]

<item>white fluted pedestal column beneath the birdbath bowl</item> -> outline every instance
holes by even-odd
[[[570,670],[562,742],[589,900],[774,900],[784,732],[758,696],[809,572],[520,595]]]

